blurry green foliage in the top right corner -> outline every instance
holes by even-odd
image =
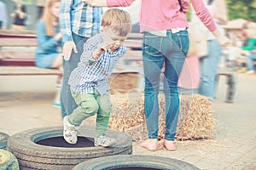
[[[226,3],[230,20],[241,18],[256,22],[256,0],[226,0]]]

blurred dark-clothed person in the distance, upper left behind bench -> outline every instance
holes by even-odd
[[[15,12],[10,14],[14,18],[12,29],[15,31],[24,31],[26,29],[26,7],[21,0],[15,0]]]

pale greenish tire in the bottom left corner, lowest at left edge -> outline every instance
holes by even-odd
[[[19,170],[17,158],[8,150],[0,150],[0,170]]]

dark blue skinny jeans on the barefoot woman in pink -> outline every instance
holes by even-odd
[[[158,138],[160,73],[165,64],[163,93],[166,98],[165,139],[174,140],[179,113],[177,80],[183,68],[184,59],[189,50],[188,31],[172,33],[158,37],[149,32],[143,34],[143,69],[145,79],[145,116],[148,139]]]

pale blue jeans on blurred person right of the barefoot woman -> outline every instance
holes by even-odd
[[[201,81],[199,94],[207,96],[210,101],[215,94],[215,77],[222,48],[216,39],[208,40],[208,55],[200,59]]]

